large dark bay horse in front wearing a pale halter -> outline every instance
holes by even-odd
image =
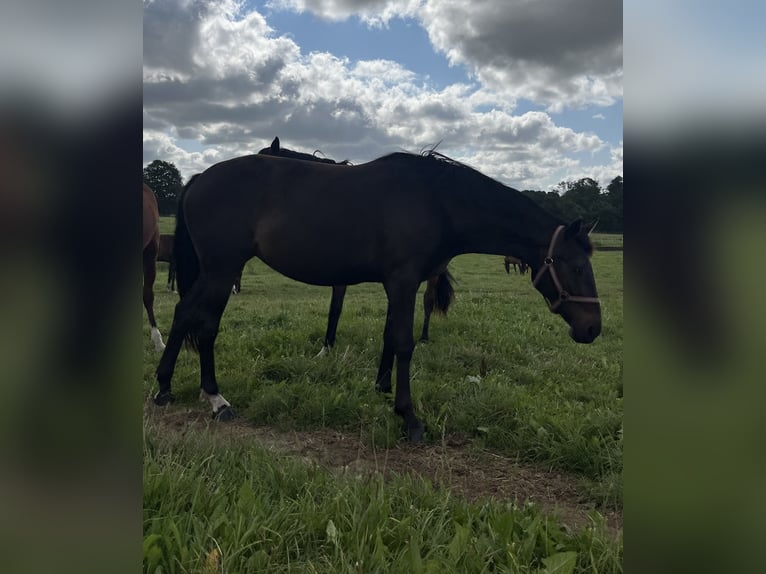
[[[184,339],[196,346],[213,416],[233,416],[219,393],[214,344],[231,284],[251,257],[314,285],[382,283],[388,298],[376,387],[391,391],[409,438],[424,428],[410,393],[412,323],[421,282],[463,253],[513,253],[578,343],[601,332],[590,229],[551,215],[520,192],[437,152],[394,153],[339,166],[268,155],[216,164],[187,187],[176,219],[178,291],[154,402],[173,400]]]

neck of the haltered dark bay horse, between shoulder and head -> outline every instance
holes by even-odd
[[[471,190],[452,211],[461,253],[515,255],[529,261],[548,245],[559,224],[532,200],[499,184]]]

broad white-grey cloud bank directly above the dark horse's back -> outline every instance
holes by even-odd
[[[158,29],[190,4],[147,4],[145,29]],[[205,4],[195,14],[179,14],[192,39],[189,53],[157,54],[165,42],[149,41],[144,67],[145,161],[173,161],[187,178],[279,136],[286,147],[355,163],[442,141],[441,151],[508,185],[543,188],[580,167],[575,155],[606,145],[543,111],[513,115],[513,99],[495,88],[436,90],[397,62],[303,54],[261,15],[231,2]]]

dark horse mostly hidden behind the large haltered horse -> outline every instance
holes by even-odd
[[[302,159],[305,161],[317,161],[322,163],[331,163],[338,165],[351,165],[348,160],[336,162],[335,160],[323,157],[317,157],[317,152],[308,154],[300,151],[280,147],[279,138],[274,138],[270,147],[265,147],[258,152],[263,155],[276,155],[292,159]],[[431,323],[431,313],[434,310],[442,315],[447,314],[450,304],[455,298],[454,280],[449,271],[444,271],[428,278],[426,291],[423,293],[423,330],[420,333],[421,341],[428,341],[428,327]],[[343,311],[343,300],[346,297],[346,285],[333,285],[332,298],[330,299],[330,312],[327,316],[327,330],[325,331],[322,350],[318,357],[327,353],[335,344],[335,334],[338,330],[338,321]]]

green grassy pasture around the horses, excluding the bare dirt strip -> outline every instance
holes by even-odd
[[[173,231],[171,220],[162,225]],[[621,246],[622,237],[598,235],[595,243]],[[607,528],[601,513],[622,506],[622,256],[593,256],[603,330],[591,345],[575,344],[529,276],[507,275],[501,257],[456,258],[453,308],[434,318],[431,342],[418,345],[412,362],[428,445],[460,444],[563,473],[595,508],[587,526],[572,528],[535,504],[469,500],[407,472],[334,472],[204,425],[167,432],[163,417],[209,408],[198,402],[198,358],[182,351],[177,405],[145,417],[145,570],[621,572],[621,531]],[[164,290],[165,269],[155,286],[163,333],[177,300]],[[374,391],[383,289],[349,288],[336,347],[315,358],[329,298],[328,288],[250,261],[216,342],[221,392],[239,424],[333,431],[379,456],[393,453],[401,421],[390,397]],[[417,333],[421,324],[419,305]],[[144,320],[147,400],[157,360]]]

